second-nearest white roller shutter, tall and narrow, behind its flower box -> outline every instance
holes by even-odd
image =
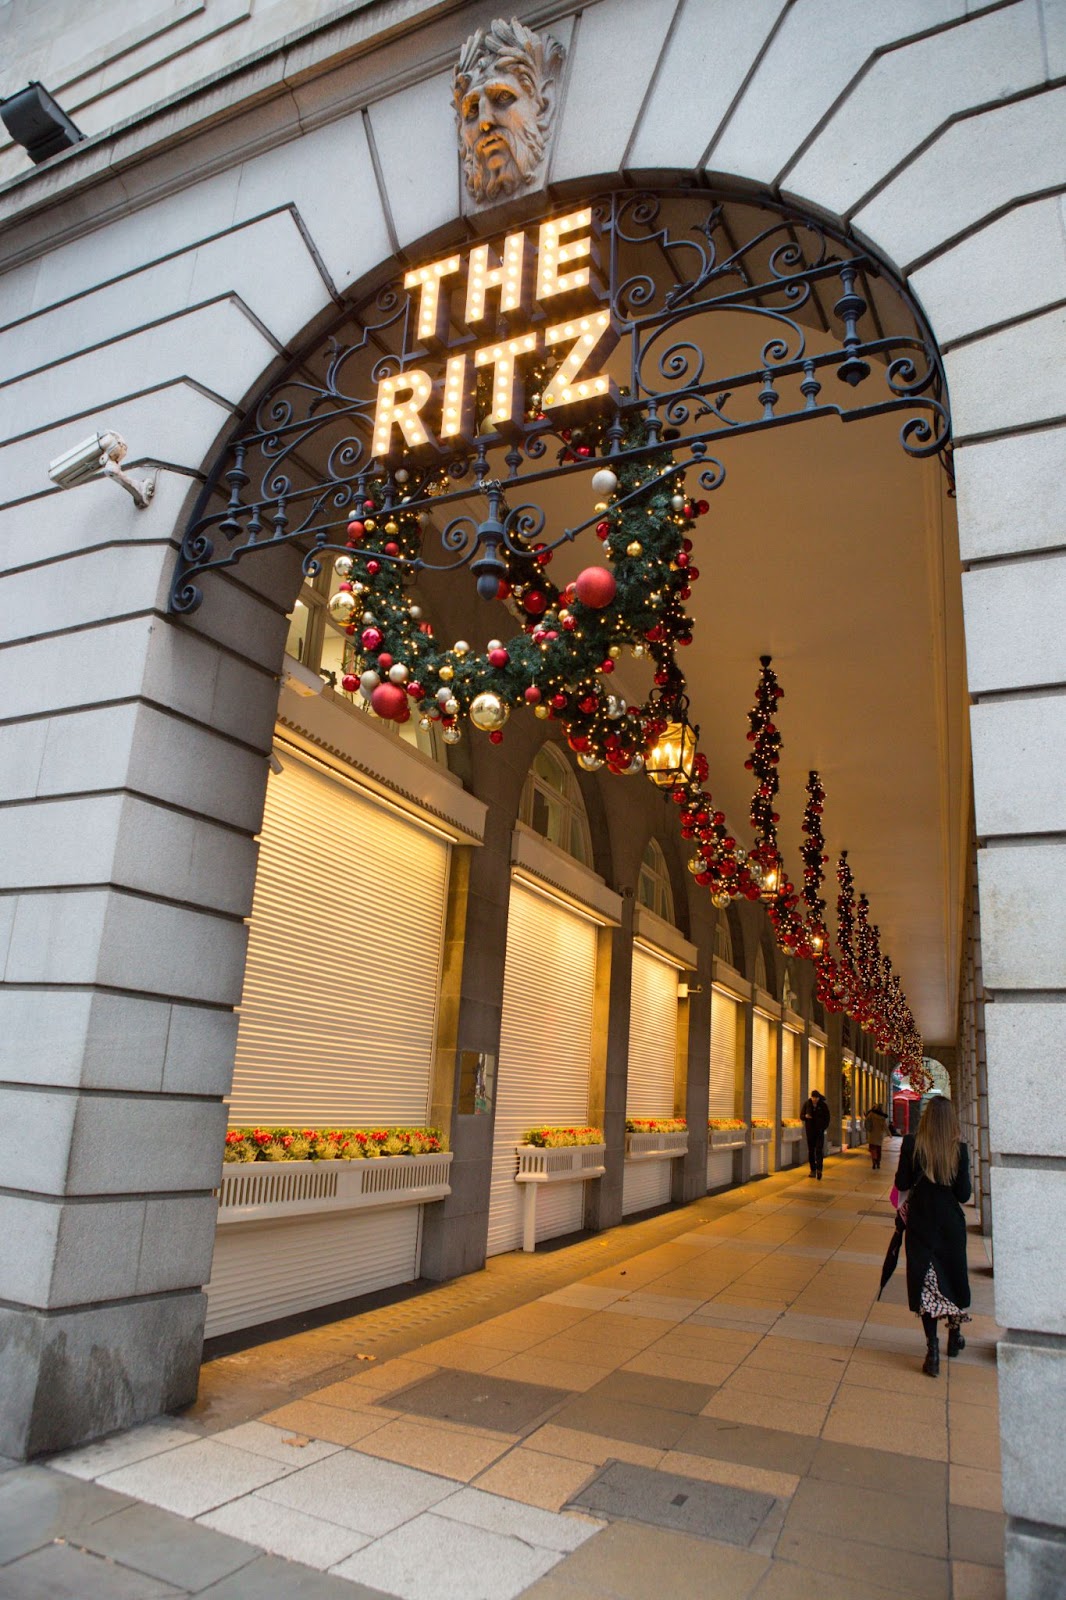
[[[595,923],[512,883],[488,1200],[490,1256],[522,1243],[515,1144],[539,1123],[583,1126],[589,1120],[595,941]],[[541,1187],[538,1238],[571,1234],[583,1218],[584,1184]]]

